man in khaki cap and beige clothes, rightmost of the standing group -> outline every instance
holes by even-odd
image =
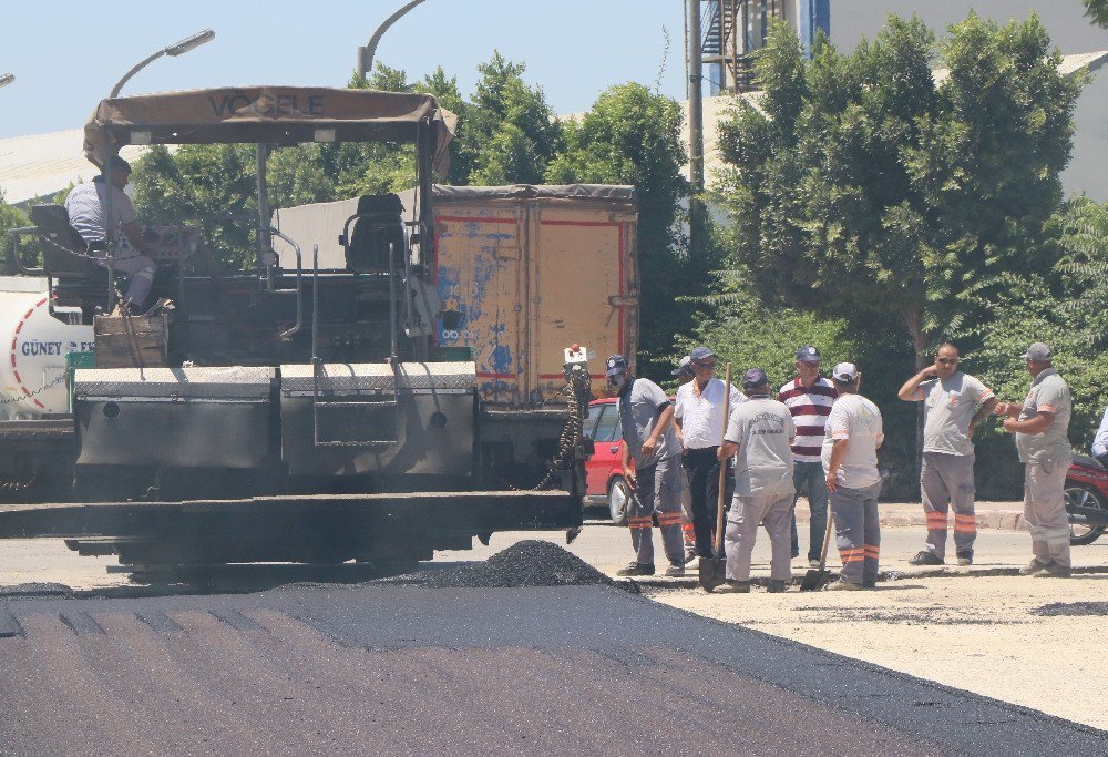
[[[1024,354],[1033,376],[1023,405],[997,402],[1007,416],[1004,430],[1016,436],[1024,467],[1024,519],[1032,531],[1035,555],[1023,575],[1066,579],[1070,574],[1069,516],[1066,514],[1066,472],[1074,461],[1069,448],[1069,386],[1054,369],[1050,348],[1036,341]]]

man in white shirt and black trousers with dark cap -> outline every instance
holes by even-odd
[[[694,379],[677,390],[674,418],[684,446],[697,554],[709,557],[712,554],[711,530],[716,524],[719,502],[720,462],[716,459],[716,450],[724,437],[726,387],[715,377],[715,352],[707,347],[697,347],[689,357]],[[731,387],[731,410],[745,399],[742,392]]]

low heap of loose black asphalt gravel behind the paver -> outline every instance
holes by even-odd
[[[526,540],[497,552],[485,562],[383,579],[384,583],[418,584],[433,589],[501,589],[510,586],[578,586],[602,584],[636,589],[616,582],[557,544]]]

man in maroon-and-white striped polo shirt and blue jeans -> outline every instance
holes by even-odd
[[[820,453],[823,449],[823,433],[831,405],[839,392],[834,385],[820,376],[820,351],[811,346],[797,350],[797,378],[781,387],[777,399],[789,408],[792,422],[797,426],[797,438],[792,442],[792,483],[797,490],[792,499],[792,556],[800,556],[800,540],[797,535],[797,498],[802,491],[808,494],[808,507],[812,512],[809,525],[808,564],[820,564],[820,548],[828,528],[828,490],[823,475]]]

